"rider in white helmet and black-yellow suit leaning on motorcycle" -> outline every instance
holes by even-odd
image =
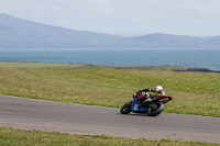
[[[154,92],[154,94],[148,93]],[[151,101],[151,98],[157,97],[157,96],[165,96],[165,92],[163,91],[162,86],[156,86],[155,88],[147,88],[143,90],[139,90],[139,93],[143,96],[144,101]]]

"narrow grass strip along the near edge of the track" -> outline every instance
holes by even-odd
[[[119,138],[111,136],[72,135],[57,132],[40,132],[0,127],[1,146],[219,146],[201,142],[174,139]]]

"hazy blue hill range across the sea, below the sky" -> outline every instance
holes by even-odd
[[[123,37],[46,25],[0,14],[0,48],[220,48],[220,36],[148,34]]]

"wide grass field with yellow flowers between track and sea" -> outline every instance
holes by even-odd
[[[174,98],[164,112],[220,117],[217,72],[0,61],[0,94],[121,108],[134,91],[157,85]]]

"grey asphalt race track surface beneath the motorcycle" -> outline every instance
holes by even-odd
[[[166,106],[165,106],[166,108]],[[220,119],[162,113],[122,115],[119,109],[0,96],[0,126],[75,134],[220,143]]]

